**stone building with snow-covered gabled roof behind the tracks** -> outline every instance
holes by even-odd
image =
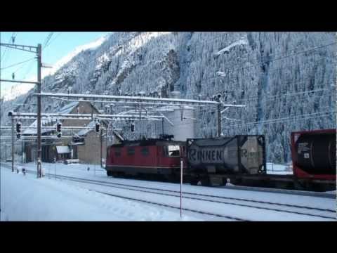
[[[65,105],[57,111],[62,114],[99,114],[99,110],[89,102],[79,101]],[[106,134],[107,122],[100,122],[100,133],[95,132],[95,121],[88,119],[62,119],[59,122],[64,126],[86,126],[89,129],[67,130],[62,129],[62,138],[56,136],[57,120],[43,119],[42,126],[53,126],[54,129],[41,129],[42,162],[65,162],[78,159],[80,163],[100,164],[106,157],[107,144],[119,143],[123,140],[117,131]],[[37,127],[37,121],[31,124]],[[103,129],[103,130],[102,130]],[[109,136],[110,135],[110,136]],[[22,136],[37,136],[37,129],[27,129]],[[46,138],[44,138],[46,137]],[[26,162],[33,162],[37,157],[37,141],[25,142]]]

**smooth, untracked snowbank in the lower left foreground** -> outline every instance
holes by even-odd
[[[1,167],[1,221],[189,221],[178,212]]]

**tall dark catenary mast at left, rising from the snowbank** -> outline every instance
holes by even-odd
[[[37,44],[37,93],[41,93],[41,44]],[[41,178],[41,96],[37,96],[37,177]]]

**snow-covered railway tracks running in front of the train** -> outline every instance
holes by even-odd
[[[27,171],[31,174],[36,174],[35,171]],[[53,174],[46,174],[46,176],[53,176]],[[165,195],[165,196],[171,196],[171,197],[180,197],[180,191],[177,190],[167,190],[167,189],[161,189],[161,188],[152,188],[152,187],[145,187],[145,186],[133,186],[128,185],[125,183],[113,183],[113,182],[106,182],[106,181],[98,181],[93,179],[81,179],[74,176],[64,176],[64,175],[56,175],[56,178],[58,179],[65,179],[70,181],[76,181],[79,183],[87,183],[91,185],[96,186],[106,186],[110,188],[119,188],[123,190],[132,190],[137,191],[141,193],[150,193],[154,195]],[[116,195],[112,193],[102,192],[100,190],[95,190],[99,193],[103,193],[105,195],[112,195],[114,197],[122,197],[129,200],[135,200],[140,202],[146,202],[150,203],[152,205],[161,205],[164,207],[171,207],[175,209],[180,209],[180,207],[175,207],[172,205],[166,205],[159,202],[152,202],[149,200],[140,200],[133,197],[126,197],[123,195]],[[315,216],[323,219],[329,219],[329,220],[336,220],[336,210],[333,209],[322,209],[318,207],[309,207],[309,206],[303,206],[303,205],[291,205],[291,204],[284,204],[279,202],[267,202],[267,201],[260,201],[260,200],[251,200],[251,199],[245,199],[245,198],[239,198],[239,197],[225,197],[225,196],[218,196],[218,195],[207,195],[207,194],[201,194],[201,193],[190,193],[190,192],[183,192],[183,198],[188,200],[197,200],[202,202],[216,202],[219,204],[224,205],[233,205],[233,206],[239,206],[239,207],[249,207],[253,209],[264,209],[272,212],[282,212],[282,213],[289,213],[289,214],[299,214],[299,215],[305,215],[305,216]],[[232,216],[226,216],[223,214],[214,214],[211,212],[204,212],[201,210],[195,210],[195,209],[186,209],[183,210],[189,211],[189,212],[197,212],[199,214],[208,214],[212,216],[218,216],[223,217],[227,219],[233,219],[233,220],[240,220],[244,221],[244,219],[239,219],[237,217]]]

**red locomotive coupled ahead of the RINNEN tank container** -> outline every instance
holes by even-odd
[[[186,167],[183,141],[171,141],[171,138],[124,141],[107,148],[106,170],[108,176],[178,181],[180,159]]]

